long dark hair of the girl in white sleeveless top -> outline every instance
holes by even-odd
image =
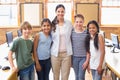
[[[90,36],[90,33],[89,33],[89,25],[90,24],[94,24],[97,28],[97,33],[96,33],[95,38],[94,38],[94,46],[95,46],[96,49],[99,48],[99,46],[98,46],[99,25],[95,20],[92,20],[92,21],[89,21],[88,24],[87,24],[87,33],[88,33],[88,36],[86,37],[86,47],[87,47],[86,49],[87,49],[87,51],[89,51],[89,48],[90,48],[89,43],[90,43],[90,39],[91,39],[91,36]]]

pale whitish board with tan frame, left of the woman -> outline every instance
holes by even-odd
[[[32,26],[40,26],[43,10],[42,3],[21,3],[20,22],[28,21]]]

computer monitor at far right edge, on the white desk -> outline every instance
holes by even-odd
[[[118,35],[111,33],[111,41],[113,44],[112,52],[116,53],[115,48],[120,49]]]

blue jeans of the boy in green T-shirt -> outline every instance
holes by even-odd
[[[35,72],[34,72],[34,64],[29,67],[19,71],[20,80],[34,80]]]

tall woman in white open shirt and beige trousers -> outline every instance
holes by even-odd
[[[56,6],[56,17],[52,21],[52,46],[51,46],[51,64],[54,80],[59,80],[61,71],[61,80],[68,80],[71,67],[71,31],[72,24],[64,19],[65,7],[62,4]]]

